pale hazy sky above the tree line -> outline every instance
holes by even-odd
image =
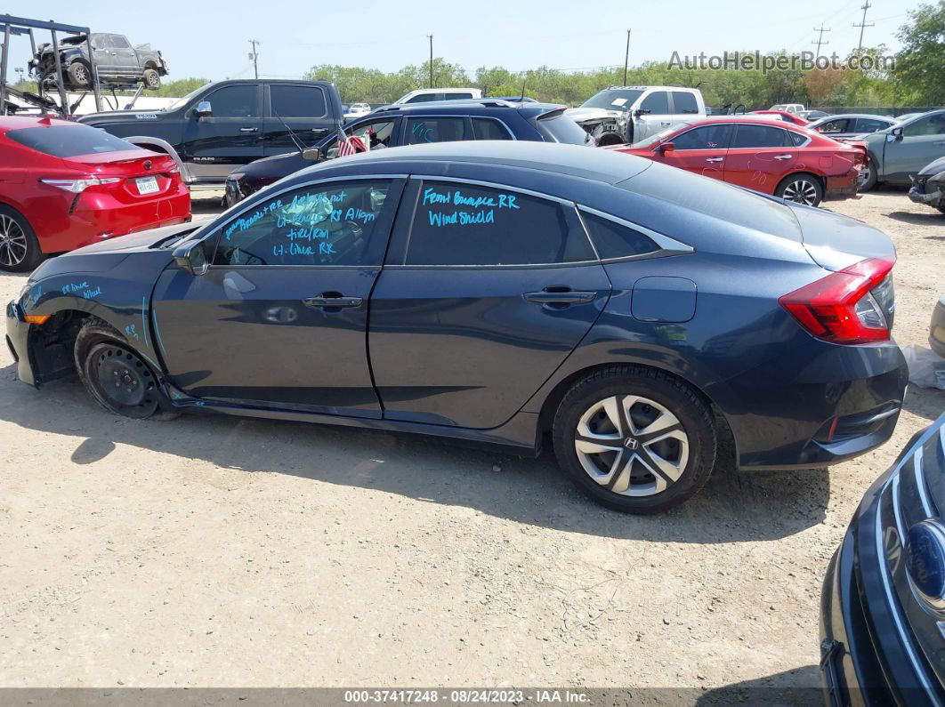
[[[117,32],[132,44],[150,42],[163,52],[169,79],[251,77],[250,39],[259,40],[260,76],[301,77],[316,64],[396,71],[434,54],[471,74],[479,66],[512,71],[545,65],[556,69],[623,66],[627,29],[630,65],[648,59],[721,54],[724,50],[814,51],[823,25],[821,54],[841,57],[854,49],[864,0],[475,0],[472,3],[404,3],[386,0],[325,2],[267,0],[250,3],[163,0],[134,3],[92,0],[7,0],[4,12],[92,31]],[[873,0],[864,45],[899,47],[896,31],[918,0]],[[146,9],[145,9],[146,8]],[[48,42],[48,33],[41,42]],[[41,33],[39,36],[43,36]],[[11,41],[11,66],[26,64],[28,41]],[[10,70],[10,77],[13,71]]]

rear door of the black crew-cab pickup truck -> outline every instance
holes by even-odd
[[[263,148],[266,156],[294,152],[291,133],[312,147],[337,128],[329,100],[321,86],[303,83],[267,83]]]

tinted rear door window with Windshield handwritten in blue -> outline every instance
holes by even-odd
[[[493,187],[424,181],[407,265],[526,265],[593,261],[576,218],[558,201]]]

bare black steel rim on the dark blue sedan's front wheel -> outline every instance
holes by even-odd
[[[85,373],[94,396],[112,412],[142,418],[157,410],[157,381],[128,348],[111,342],[94,345]]]

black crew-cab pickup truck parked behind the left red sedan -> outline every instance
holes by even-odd
[[[201,86],[163,110],[83,115],[80,123],[164,152],[192,187],[222,189],[243,164],[318,143],[344,121],[329,81],[240,79]],[[294,139],[293,139],[294,136]]]

